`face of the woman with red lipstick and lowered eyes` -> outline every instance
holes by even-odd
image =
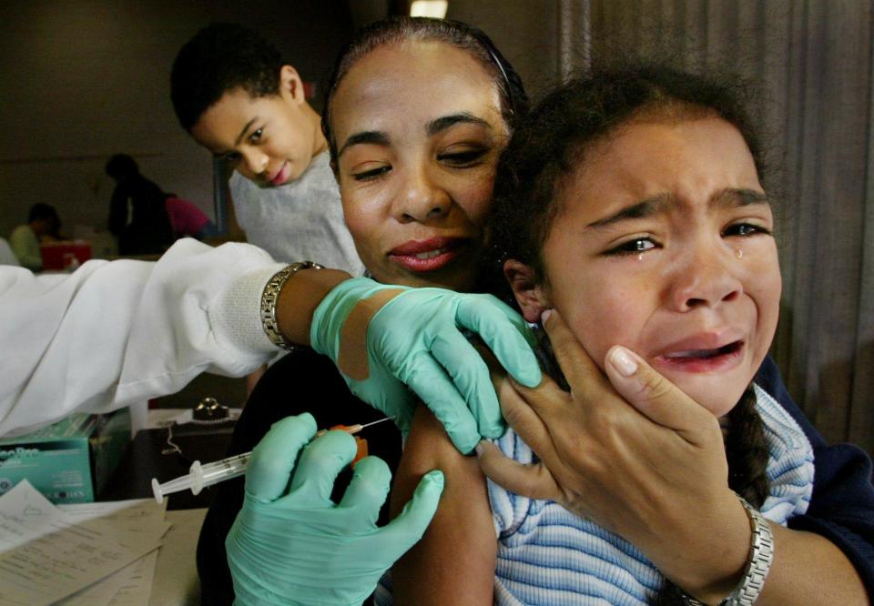
[[[441,42],[381,46],[331,104],[343,212],[375,278],[466,290],[508,132],[491,76]]]

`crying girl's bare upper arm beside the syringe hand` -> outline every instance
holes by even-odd
[[[458,452],[440,421],[416,410],[391,490],[397,515],[426,472],[440,469],[445,488],[422,540],[392,569],[397,604],[491,604],[497,541],[485,479],[475,457]]]

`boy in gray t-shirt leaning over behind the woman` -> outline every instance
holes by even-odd
[[[273,45],[240,25],[208,25],[179,51],[170,96],[182,127],[233,164],[233,209],[250,243],[279,261],[363,273],[321,118]]]

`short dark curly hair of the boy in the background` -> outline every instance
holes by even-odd
[[[190,131],[229,90],[252,97],[279,94],[284,65],[276,46],[258,32],[229,23],[204,27],[182,46],[170,73],[170,98],[179,124]]]

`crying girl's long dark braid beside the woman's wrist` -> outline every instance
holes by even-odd
[[[767,480],[768,450],[764,424],[756,409],[756,391],[752,385],[727,415],[725,442],[728,488],[760,508],[770,490]],[[650,603],[653,606],[682,605],[682,595],[674,583],[666,580]]]

